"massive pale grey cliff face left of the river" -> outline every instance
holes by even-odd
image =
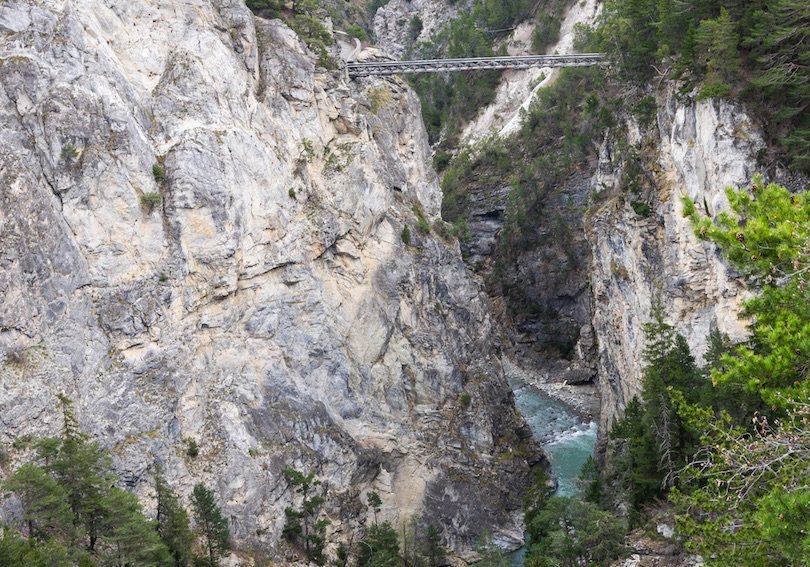
[[[240,1],[4,2],[0,34],[3,444],[64,392],[141,495],[154,461],[215,487],[242,550],[278,540],[286,465],[333,525],[374,489],[459,550],[521,537],[528,432],[485,296],[416,229],[440,193],[407,88]]]

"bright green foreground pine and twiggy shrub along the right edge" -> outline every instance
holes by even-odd
[[[684,212],[760,293],[745,303],[751,338],[715,337],[707,357],[725,398],[713,406],[736,411],[681,403],[704,434],[671,499],[707,565],[798,567],[810,560],[810,197],[761,179],[727,194],[732,211],[714,222],[688,199]]]

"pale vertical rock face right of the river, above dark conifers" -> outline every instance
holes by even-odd
[[[746,297],[743,282],[714,245],[695,237],[681,197],[689,195],[711,216],[727,208],[725,189],[749,182],[755,173],[757,152],[764,147],[761,130],[740,106],[724,101],[684,104],[663,93],[658,109],[652,214],[642,217],[629,203],[612,201],[589,222],[603,429],[640,392],[642,326],[654,302],[698,358],[713,329],[735,340],[746,333],[738,318]],[[630,143],[639,141],[633,130]],[[609,163],[612,151],[610,144],[602,148],[595,191],[619,183],[620,172]]]

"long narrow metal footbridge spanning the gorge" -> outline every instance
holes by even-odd
[[[421,59],[416,61],[375,61],[347,63],[349,77],[399,75],[405,73],[444,73],[489,69],[529,69],[531,67],[585,67],[604,65],[603,53],[572,55],[522,55],[517,57],[467,57],[463,59]]]

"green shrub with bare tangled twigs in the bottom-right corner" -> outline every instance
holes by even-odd
[[[671,498],[687,547],[711,567],[799,567],[810,560],[808,406],[754,433],[707,424],[706,447]]]

